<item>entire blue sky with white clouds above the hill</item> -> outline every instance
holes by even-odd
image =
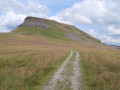
[[[34,16],[71,24],[120,46],[120,0],[0,0],[0,33],[7,33]]]

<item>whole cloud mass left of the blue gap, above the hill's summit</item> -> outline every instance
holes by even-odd
[[[46,18],[49,9],[38,2],[28,0],[21,3],[18,0],[0,0],[0,32],[9,32],[21,24],[26,16]]]

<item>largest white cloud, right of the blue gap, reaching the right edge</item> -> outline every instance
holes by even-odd
[[[52,19],[72,24],[109,25],[120,23],[120,1],[83,0],[63,10]]]

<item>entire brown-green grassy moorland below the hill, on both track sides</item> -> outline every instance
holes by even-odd
[[[120,50],[17,34],[0,34],[0,89],[39,90],[71,49],[82,55],[82,90],[120,89]]]

